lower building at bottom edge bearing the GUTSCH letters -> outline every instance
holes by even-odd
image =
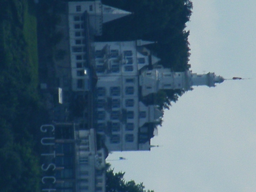
[[[73,123],[42,125],[42,191],[105,192],[108,151],[96,142],[94,129]]]

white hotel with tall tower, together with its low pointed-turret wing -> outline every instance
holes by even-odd
[[[161,89],[191,90],[194,85],[215,86],[224,79],[214,73],[197,75],[191,71],[175,73],[157,65],[159,58],[143,46],[153,42],[95,42],[89,34],[101,35],[102,24],[131,14],[102,5],[99,0],[69,2],[69,41],[72,90],[90,90],[89,58],[94,55],[96,85],[96,122],[98,133],[105,136],[109,151],[150,150],[154,128],[163,112],[145,106],[141,99]],[[90,48],[93,50],[90,51]],[[93,53],[91,53],[93,52]],[[148,70],[148,66],[153,67]]]

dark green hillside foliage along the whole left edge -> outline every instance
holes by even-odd
[[[0,191],[39,191],[41,104],[33,0],[0,3]]]

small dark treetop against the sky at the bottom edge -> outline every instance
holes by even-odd
[[[106,192],[146,192],[143,183],[136,184],[134,180],[126,182],[124,175],[125,172],[114,173],[113,169],[109,169],[106,174]]]

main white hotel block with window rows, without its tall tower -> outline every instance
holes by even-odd
[[[148,66],[151,55],[143,55],[137,47],[146,43],[152,42],[93,44],[98,76],[96,127],[105,134],[109,151],[150,150],[148,123],[163,116],[155,106],[145,106],[139,99],[140,70]]]

